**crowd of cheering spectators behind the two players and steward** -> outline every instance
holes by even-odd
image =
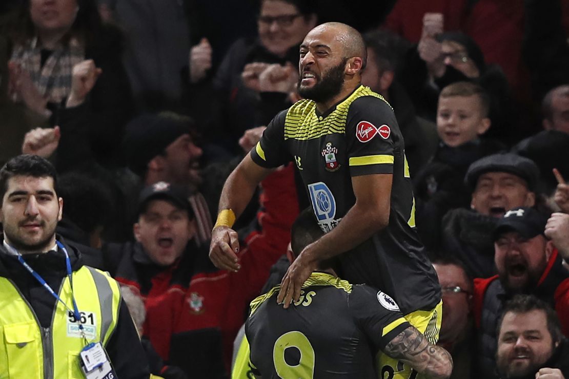
[[[453,377],[569,379],[569,2],[352,3],[3,1],[0,164],[55,165],[57,233],[125,286],[155,374],[226,378],[308,198],[294,164],[267,176],[226,272],[207,256],[222,185],[300,99],[307,32],[352,23],[405,139]]]

